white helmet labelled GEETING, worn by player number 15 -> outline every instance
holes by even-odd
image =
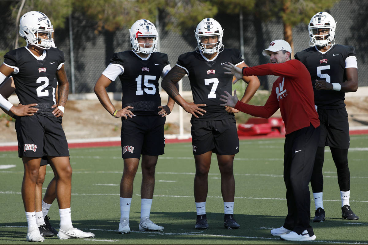
[[[139,19],[129,30],[130,44],[134,53],[151,54],[157,51],[158,32],[148,19]],[[153,43],[138,43],[137,37],[153,37]],[[144,47],[139,46],[143,44]]]

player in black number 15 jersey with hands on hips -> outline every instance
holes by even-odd
[[[164,154],[165,116],[170,114],[174,101],[161,105],[159,78],[170,70],[167,54],[157,51],[158,32],[147,19],[136,21],[130,29],[132,50],[114,53],[109,66],[95,85],[95,93],[105,109],[121,118],[121,148],[124,172],[120,182],[119,233],[130,233],[129,212],[133,180],[142,155],[140,231],[162,231],[149,219],[155,187],[155,167]],[[119,77],[123,88],[122,109],[116,109],[106,88]]]

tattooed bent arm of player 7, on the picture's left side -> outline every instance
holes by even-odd
[[[206,106],[205,104],[194,104],[194,102],[187,102],[183,97],[179,94],[178,87],[176,84],[182,79],[185,75],[185,70],[179,66],[174,66],[169,73],[164,76],[161,82],[161,87],[166,91],[167,94],[177,102],[183,109],[194,115],[198,118],[198,115],[202,115],[202,112],[206,112],[204,109],[199,107]]]

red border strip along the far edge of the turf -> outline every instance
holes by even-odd
[[[350,134],[368,134],[368,130],[351,130]],[[262,135],[262,136],[239,136],[239,140],[266,139],[266,138],[284,138],[284,135]],[[191,142],[192,139],[166,139],[166,144]],[[120,146],[120,141],[103,141],[103,142],[85,142],[85,143],[69,143],[69,148],[90,148],[90,147],[111,147]],[[0,151],[17,151],[18,145],[0,146]]]

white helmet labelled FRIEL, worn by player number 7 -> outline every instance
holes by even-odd
[[[213,54],[216,52],[221,52],[223,50],[222,45],[222,36],[224,34],[224,30],[221,28],[219,22],[212,18],[202,19],[201,22],[195,28],[195,38],[197,39],[197,47],[195,51],[198,53],[205,53],[205,54]],[[202,43],[202,37],[205,36],[218,36],[217,43]],[[212,46],[213,47],[207,47]]]

